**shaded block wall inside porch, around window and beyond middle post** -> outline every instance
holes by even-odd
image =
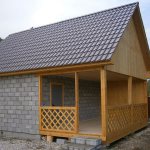
[[[75,106],[74,79],[66,77],[43,78],[43,103],[49,106],[50,82],[64,83],[64,105]],[[100,84],[94,81],[79,81],[80,120],[98,118],[100,115]]]

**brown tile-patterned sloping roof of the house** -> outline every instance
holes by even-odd
[[[138,3],[9,35],[0,72],[108,61]]]

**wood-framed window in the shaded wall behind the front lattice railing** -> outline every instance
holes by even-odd
[[[51,106],[63,106],[64,85],[61,83],[51,83],[50,85],[50,104]]]

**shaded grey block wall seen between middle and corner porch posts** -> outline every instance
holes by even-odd
[[[81,80],[79,82],[80,120],[100,117],[100,83]]]

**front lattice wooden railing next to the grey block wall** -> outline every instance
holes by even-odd
[[[40,107],[40,130],[75,132],[75,107]]]

